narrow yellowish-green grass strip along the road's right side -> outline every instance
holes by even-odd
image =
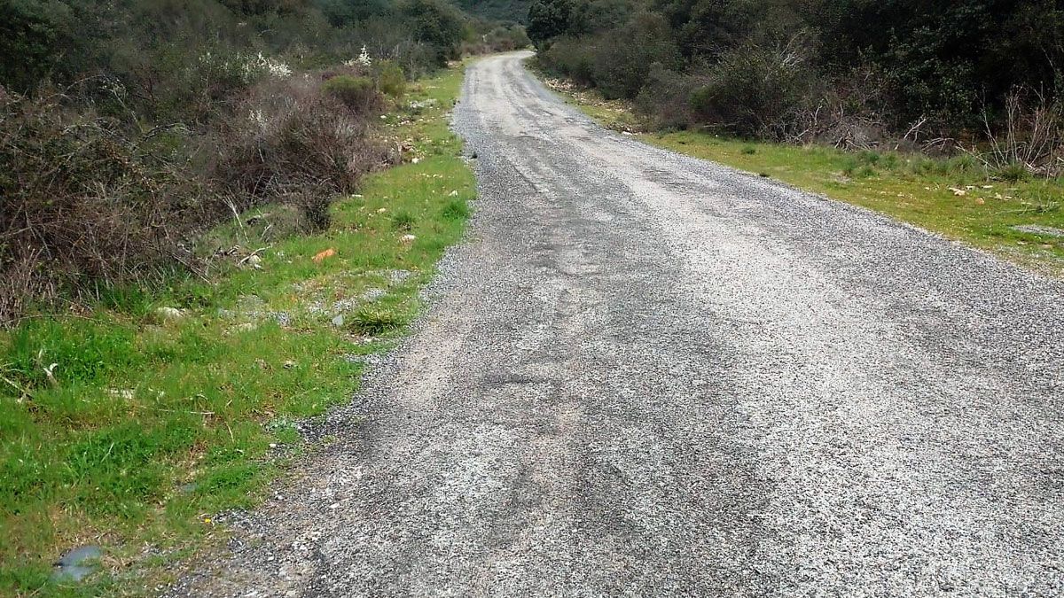
[[[551,86],[608,128],[643,130],[625,102],[603,100],[594,92]],[[643,133],[639,138],[882,212],[1036,271],[1064,276],[1064,238],[1012,228],[1037,225],[1064,229],[1064,181],[1060,179],[1032,178],[1020,167],[987,171],[970,155],[945,160],[898,152],[848,152],[728,139],[694,131]]]

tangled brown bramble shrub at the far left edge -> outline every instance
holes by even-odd
[[[201,189],[60,94],[0,105],[0,321],[28,303],[160,273]]]

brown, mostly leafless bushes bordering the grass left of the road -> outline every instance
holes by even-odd
[[[192,237],[234,211],[278,201],[298,206],[305,228],[327,226],[335,194],[383,161],[369,118],[379,95],[366,81],[375,99],[349,106],[320,77],[263,78],[199,134],[133,134],[59,94],[7,99],[0,318],[194,266]]]

